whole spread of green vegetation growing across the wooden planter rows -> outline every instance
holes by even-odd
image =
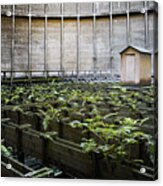
[[[89,133],[80,144],[87,153],[142,162],[132,157],[130,149],[144,143],[154,162],[154,139],[141,130],[150,122],[151,116],[144,108],[152,108],[153,87],[128,90],[118,84],[52,82],[30,87],[2,86],[1,97],[2,105],[15,105],[14,111],[36,114],[42,119],[44,131],[67,119],[70,127]],[[35,110],[23,109],[23,104],[35,104]]]

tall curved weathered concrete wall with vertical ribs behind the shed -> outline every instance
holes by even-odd
[[[124,46],[153,49],[154,6],[134,1],[3,5],[2,70],[120,74]],[[7,17],[7,10],[15,15]]]

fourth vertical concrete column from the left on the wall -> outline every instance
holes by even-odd
[[[63,18],[63,3],[61,3],[60,5],[60,13],[61,13],[61,33],[60,33],[60,70],[63,71],[63,22],[64,22],[64,18]],[[63,74],[62,74],[63,75]]]

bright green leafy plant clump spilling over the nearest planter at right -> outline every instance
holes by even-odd
[[[127,151],[129,145],[138,144],[140,141],[146,142],[152,148],[152,136],[140,131],[139,126],[147,120],[134,120],[124,118],[120,125],[105,124],[102,122],[85,125],[87,129],[100,139],[83,139],[81,147],[85,152],[95,151],[102,153],[106,158],[112,156],[117,161],[129,158]],[[152,154],[152,151],[150,152]]]

